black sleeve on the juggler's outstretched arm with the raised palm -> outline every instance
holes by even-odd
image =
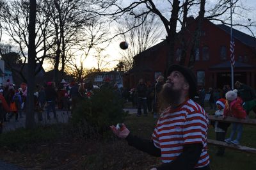
[[[139,137],[131,134],[129,134],[125,139],[130,146],[133,146],[138,150],[144,151],[154,157],[161,156],[161,150],[156,148],[152,140],[140,139]]]

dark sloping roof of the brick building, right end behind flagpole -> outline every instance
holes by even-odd
[[[226,26],[224,24],[218,24],[216,26],[219,27],[220,29],[223,29],[226,33],[228,33],[228,35],[230,35],[229,26]],[[250,47],[256,47],[256,38],[254,38],[253,36],[246,35],[245,33],[238,31],[237,29],[234,29],[234,28],[232,29],[232,34],[234,38],[241,41],[245,45],[248,45]]]

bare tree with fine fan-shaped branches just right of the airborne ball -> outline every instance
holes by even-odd
[[[147,50],[161,40],[163,27],[158,22],[156,15],[150,15],[147,18],[134,18],[127,15],[124,20],[125,22],[121,22],[120,26],[118,26],[118,33],[124,33],[121,36],[125,42],[129,43],[129,48],[121,52],[122,62],[125,62],[125,69],[129,70],[134,64],[134,56]],[[143,20],[145,21],[143,22]],[[142,24],[140,25],[140,23]],[[134,29],[131,29],[132,27]],[[125,33],[129,29],[131,31]]]

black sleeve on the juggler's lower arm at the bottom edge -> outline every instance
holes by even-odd
[[[170,163],[161,164],[157,170],[191,170],[194,169],[202,153],[203,145],[185,144],[182,153]]]

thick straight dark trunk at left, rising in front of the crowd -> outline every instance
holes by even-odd
[[[27,93],[27,112],[26,128],[35,127],[34,118],[34,88],[35,88],[35,64],[36,64],[36,47],[35,47],[35,22],[36,22],[36,0],[29,1],[29,47],[28,47],[28,93]]]

